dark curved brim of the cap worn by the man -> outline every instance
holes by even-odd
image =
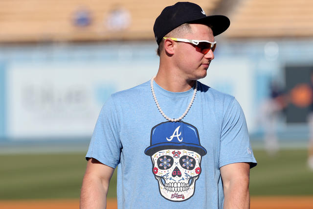
[[[230,20],[224,15],[210,15],[189,23],[209,25],[213,31],[213,36],[217,36],[227,30],[230,25]]]

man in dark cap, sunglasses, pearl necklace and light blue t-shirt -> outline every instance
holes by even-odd
[[[118,208],[249,208],[256,161],[245,116],[233,96],[197,81],[214,59],[214,36],[229,23],[190,2],[162,11],[154,25],[158,72],[102,108],[81,208],[105,208],[117,165]]]

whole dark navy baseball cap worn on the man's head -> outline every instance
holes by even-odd
[[[223,33],[230,25],[229,19],[224,15],[206,16],[203,9],[195,3],[177,2],[172,6],[167,6],[156,18],[153,26],[156,43],[159,44],[162,38],[184,23],[200,23],[209,25],[213,35]]]

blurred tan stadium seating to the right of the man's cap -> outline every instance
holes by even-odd
[[[233,9],[229,38],[312,37],[312,0],[241,0]]]

